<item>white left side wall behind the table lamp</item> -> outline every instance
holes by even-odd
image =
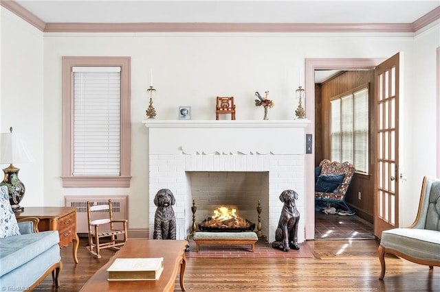
[[[0,15],[0,132],[12,126],[22,133],[34,157],[32,163],[14,164],[26,188],[21,206],[43,206],[43,33],[1,6]]]

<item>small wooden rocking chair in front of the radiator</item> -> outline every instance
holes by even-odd
[[[111,199],[108,203],[95,206],[92,206],[91,202],[87,202],[87,220],[89,223],[89,246],[87,250],[96,258],[101,257],[100,250],[104,248],[119,250],[120,246],[124,245],[128,239],[127,220],[113,220]],[[116,229],[115,224],[122,226],[123,229]],[[104,228],[107,229],[104,230]],[[121,239],[122,236],[123,239]],[[101,239],[104,239],[104,241],[101,241]]]

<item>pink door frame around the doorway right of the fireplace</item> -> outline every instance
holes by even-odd
[[[305,117],[311,121],[306,133],[315,135],[315,70],[374,70],[386,58],[306,58],[305,59]],[[313,148],[315,149],[313,139]],[[305,239],[315,239],[315,153],[305,156]]]

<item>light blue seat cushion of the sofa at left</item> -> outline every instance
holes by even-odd
[[[53,245],[58,245],[59,241],[58,232],[54,230],[0,239],[0,276],[28,263]]]

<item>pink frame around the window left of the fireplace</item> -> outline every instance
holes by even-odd
[[[67,188],[127,188],[131,182],[131,58],[67,57],[62,69],[62,167],[61,179]],[[120,175],[73,175],[74,171],[74,66],[121,67]]]

